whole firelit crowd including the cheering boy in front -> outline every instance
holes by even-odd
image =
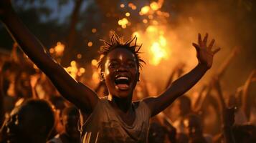
[[[90,89],[50,58],[7,9],[11,4],[1,2],[1,21],[25,54],[17,54],[14,44],[11,54],[1,55],[0,142],[256,142],[256,71],[232,95],[224,95],[221,86],[235,51],[196,92],[198,98],[185,94],[211,68],[219,51],[212,50],[214,40],[207,45],[208,34],[203,39],[199,34],[193,44],[199,64],[188,74],[183,73],[184,64],[176,66],[166,92],[150,97],[146,79],[140,80],[143,60],[136,37],[122,43],[112,34],[110,41],[103,41],[101,82]],[[138,81],[144,85],[141,90],[136,90]]]

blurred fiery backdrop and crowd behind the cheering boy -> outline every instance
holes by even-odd
[[[196,124],[199,132],[203,130],[214,138],[213,142],[219,142],[222,127],[232,121],[222,123],[224,107],[237,107],[234,124],[252,125],[254,132],[248,132],[256,137],[256,1],[12,0],[12,4],[49,54],[99,97],[108,95],[97,64],[103,45],[100,39],[108,41],[110,31],[124,41],[136,36],[137,44],[142,44],[140,56],[146,64],[140,71],[133,100],[160,94],[193,69],[197,59],[192,42],[197,43],[199,33],[208,33],[208,41],[216,41],[214,49],[221,47],[212,69],[185,96],[151,119],[148,140],[160,142],[166,131],[171,142],[185,139],[176,133],[190,137],[185,130]],[[31,98],[46,99],[56,109],[50,137],[63,132],[61,113],[70,103],[62,99],[0,24],[0,124],[11,119],[14,107]],[[249,139],[242,138],[241,132],[234,132],[234,137]]]

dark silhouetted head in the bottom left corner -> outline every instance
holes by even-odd
[[[54,113],[48,102],[29,99],[11,112],[1,127],[0,142],[44,143],[54,126]]]

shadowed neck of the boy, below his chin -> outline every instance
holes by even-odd
[[[113,103],[115,107],[120,109],[122,112],[128,112],[132,103],[132,96],[128,96],[127,98],[119,98],[113,95],[108,95],[108,99]]]

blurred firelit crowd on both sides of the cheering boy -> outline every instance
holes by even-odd
[[[36,139],[33,142],[81,142],[78,109],[33,65],[24,55],[16,54],[16,45],[10,55],[1,54],[1,142],[27,142],[28,138]],[[167,85],[180,77],[183,69],[176,66]],[[217,77],[202,86],[200,98],[183,95],[153,117],[148,142],[224,142],[224,134],[234,139],[226,142],[255,142],[256,72],[252,71],[236,93],[225,95],[228,99],[224,99]],[[104,82],[95,86],[95,92],[100,97],[108,95]]]

